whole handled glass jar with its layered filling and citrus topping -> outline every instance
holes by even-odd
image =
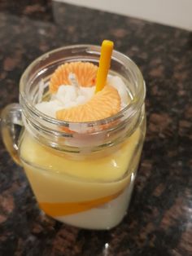
[[[137,65],[112,51],[111,67],[101,68],[100,55],[100,46],[76,45],[39,57],[20,79],[20,104],[4,108],[1,123],[41,210],[75,227],[105,230],[128,209],[146,117]]]

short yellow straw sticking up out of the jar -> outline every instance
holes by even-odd
[[[96,77],[95,92],[102,90],[106,84],[107,73],[111,64],[111,55],[114,43],[109,40],[104,40],[102,43],[101,56],[99,60],[98,73]]]

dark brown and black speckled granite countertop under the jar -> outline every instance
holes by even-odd
[[[192,34],[64,3],[0,1],[0,109],[24,68],[59,46],[109,38],[146,80],[147,133],[129,213],[111,231],[41,214],[0,140],[0,255],[192,255]]]

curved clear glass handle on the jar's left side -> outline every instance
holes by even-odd
[[[20,157],[18,156],[18,140],[21,126],[23,126],[21,116],[22,110],[20,104],[9,104],[6,108],[2,109],[2,140],[13,160],[20,166],[21,161]]]

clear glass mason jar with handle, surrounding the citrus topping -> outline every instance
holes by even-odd
[[[20,79],[20,104],[2,111],[2,139],[24,167],[41,210],[72,226],[110,229],[124,218],[146,134],[145,82],[127,56],[113,51],[110,73],[124,81],[129,104],[99,121],[59,121],[35,108],[48,99],[60,64],[98,65],[99,46],[67,46],[41,55]],[[18,138],[18,127],[22,126]]]

